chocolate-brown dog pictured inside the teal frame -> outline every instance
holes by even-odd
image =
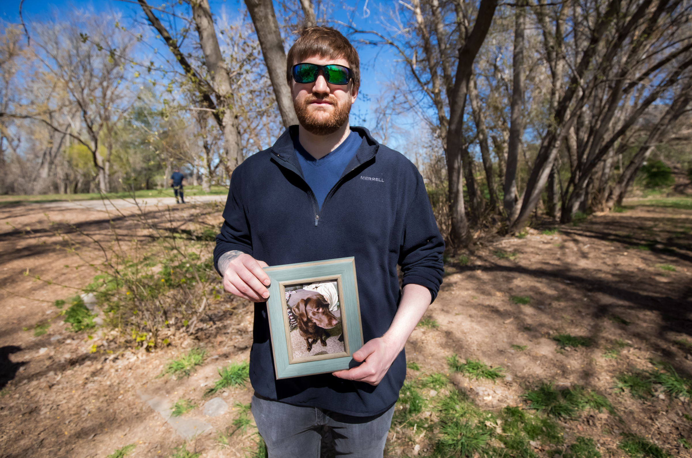
[[[305,339],[307,351],[310,351],[318,340],[323,347],[327,347],[327,329],[335,327],[339,319],[329,311],[329,302],[325,297],[316,291],[298,289],[289,297],[289,308],[298,321],[298,331]]]

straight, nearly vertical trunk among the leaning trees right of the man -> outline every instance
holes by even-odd
[[[519,148],[524,134],[524,34],[526,28],[526,11],[520,3],[514,18],[514,53],[512,59],[513,81],[511,115],[509,125],[509,143],[507,145],[507,170],[504,173],[504,211],[507,212],[507,223],[511,225],[521,209],[516,184]]]

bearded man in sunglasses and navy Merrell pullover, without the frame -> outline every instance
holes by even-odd
[[[360,71],[348,40],[307,28],[287,66],[300,125],[233,172],[215,262],[226,291],[255,302],[252,410],[269,456],[318,457],[326,426],[337,456],[382,457],[406,376],[403,347],[439,291],[444,241],[415,165],[349,127]],[[275,380],[262,267],[350,256],[362,364]]]

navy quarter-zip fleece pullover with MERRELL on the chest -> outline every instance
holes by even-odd
[[[230,250],[270,266],[355,257],[367,342],[382,336],[397,313],[397,264],[403,285],[426,286],[435,300],[444,273],[444,241],[415,165],[377,143],[367,129],[351,129],[361,136],[361,146],[321,209],[295,156],[298,126],[239,165],[231,176],[214,261]],[[250,379],[255,392],[268,399],[371,416],[397,401],[405,376],[401,351],[376,387],[331,374],[276,380],[266,303],[255,303]]]

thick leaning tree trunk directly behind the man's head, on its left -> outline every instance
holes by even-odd
[[[309,2],[309,0],[301,0],[301,5],[304,1]],[[250,17],[253,19],[253,24],[255,24],[257,39],[260,40],[262,56],[264,56],[264,64],[266,64],[269,73],[284,127],[296,125],[298,124],[298,117],[295,116],[295,109],[293,109],[291,88],[286,82],[286,52],[274,12],[274,3],[271,0],[245,0],[245,4],[250,12]],[[303,8],[305,7],[303,6]]]

